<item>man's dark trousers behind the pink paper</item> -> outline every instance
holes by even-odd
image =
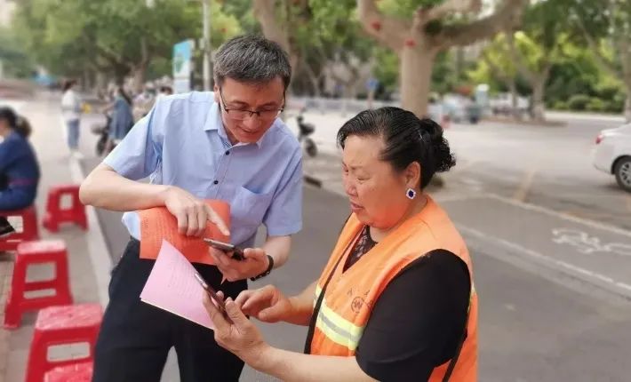
[[[244,362],[217,345],[212,330],[140,301],[155,261],[140,259],[139,254],[140,242],[132,238],[112,271],[92,381],[158,382],[172,346],[182,382],[238,381]],[[217,267],[195,267],[226,297],[236,298],[247,288],[244,280],[220,285]]]

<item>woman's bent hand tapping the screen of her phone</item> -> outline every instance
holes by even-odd
[[[244,290],[235,300],[244,314],[256,317],[262,322],[279,322],[292,315],[292,300],[274,285],[266,285],[258,290]]]

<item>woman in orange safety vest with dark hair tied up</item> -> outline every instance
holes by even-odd
[[[351,215],[317,281],[208,298],[217,342],[293,381],[476,380],[477,296],[467,246],[423,190],[454,164],[443,129],[398,107],[363,111],[338,132]],[[308,326],[305,354],[269,346],[244,314]]]

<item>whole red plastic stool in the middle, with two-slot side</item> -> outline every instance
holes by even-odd
[[[52,280],[27,282],[27,268],[33,264],[53,263],[55,276]],[[24,292],[55,290],[54,296],[26,298]],[[60,240],[25,242],[18,245],[15,257],[11,291],[4,306],[4,328],[20,326],[22,314],[48,306],[72,304],[68,283],[68,255],[66,244]]]

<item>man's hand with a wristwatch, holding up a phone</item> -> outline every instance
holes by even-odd
[[[229,256],[231,254],[214,248],[209,251],[212,259],[215,260],[215,265],[229,282],[258,276],[269,267],[268,255],[260,248],[246,248],[243,260],[232,259]]]

